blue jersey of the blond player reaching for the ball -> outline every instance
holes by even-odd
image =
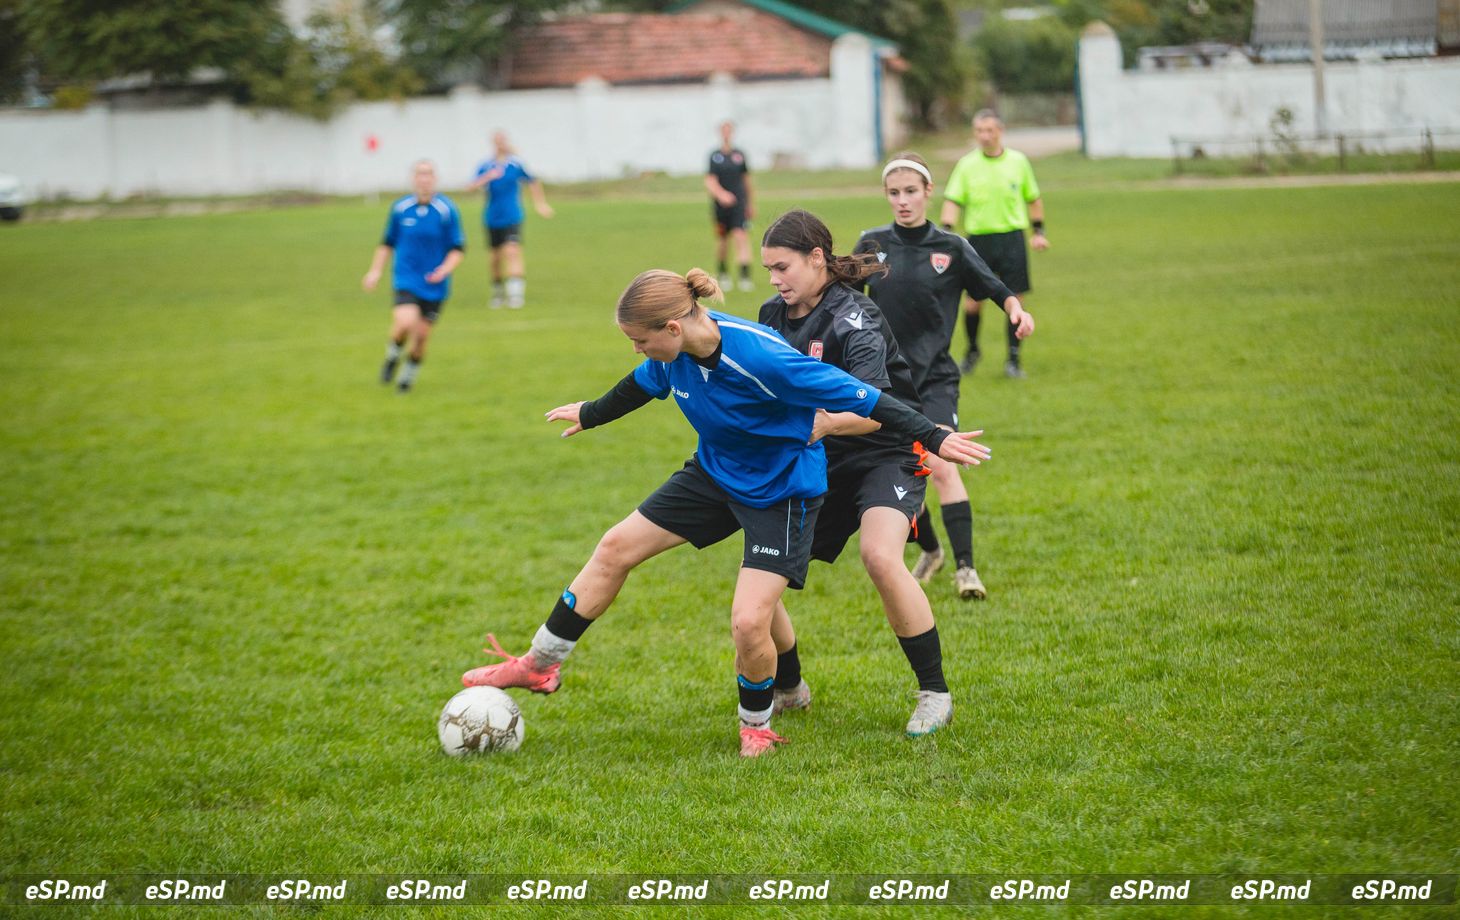
[[[730,498],[766,508],[826,491],[826,451],[807,444],[816,409],[866,416],[882,393],[797,352],[775,330],[710,311],[720,324],[720,364],[686,353],[645,361],[634,381],[656,399],[675,394],[699,434],[699,466]]]

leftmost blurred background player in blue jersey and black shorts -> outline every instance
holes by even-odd
[[[466,238],[461,235],[461,213],[451,199],[437,194],[437,168],[429,159],[418,161],[413,168],[415,193],[399,199],[390,206],[385,219],[385,237],[375,247],[369,270],[361,286],[374,291],[385,260],[396,253],[391,272],[394,310],[390,320],[390,343],[385,346],[385,364],[380,369],[380,381],[390,384],[406,352],[406,368],[396,383],[399,393],[410,393],[416,384],[420,362],[426,358],[426,340],[441,318],[451,294],[451,273],[461,264]]]

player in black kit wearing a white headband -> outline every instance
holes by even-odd
[[[1009,317],[1018,339],[1034,331],[1034,317],[967,239],[939,229],[927,219],[933,194],[933,172],[917,153],[898,153],[882,169],[882,187],[892,206],[892,223],[866,231],[854,251],[876,253],[889,269],[867,280],[867,292],[886,317],[902,355],[912,368],[912,381],[923,413],[937,425],[958,428],[958,362],[949,355],[958,301],[967,292],[974,299],[993,299]],[[899,394],[901,396],[901,394]],[[958,469],[936,457],[933,486],[942,502],[943,527],[958,567],[953,584],[965,600],[988,594],[974,568],[972,511],[968,489]],[[917,540],[923,555],[912,568],[918,581],[929,581],[943,565],[943,549],[927,511],[918,517]]]

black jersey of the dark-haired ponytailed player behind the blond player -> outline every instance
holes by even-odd
[[[790,305],[780,295],[772,296],[761,304],[761,323],[781,333],[803,355],[838,367],[857,380],[891,393],[911,409],[921,407],[911,368],[883,321],[882,311],[867,295],[835,283],[804,317],[791,320],[787,313]],[[911,441],[886,428],[869,435],[829,437],[823,444],[831,469],[886,457],[915,463]]]

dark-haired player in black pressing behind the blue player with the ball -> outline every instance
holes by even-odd
[[[912,372],[896,339],[876,304],[848,286],[861,285],[873,273],[885,275],[886,266],[870,254],[834,256],[831,231],[804,210],[787,212],[765,231],[761,258],[780,292],[761,305],[761,323],[785,336],[799,352],[917,406]],[[888,625],[918,682],[918,701],[907,733],[917,737],[936,732],[953,717],[953,697],[943,678],[933,607],[902,562],[908,529],[923,505],[927,451],[907,437],[879,431],[876,422],[845,412],[819,412],[813,437],[823,437],[826,447],[828,491],[810,555],[832,562],[851,534],[861,530],[861,564],[882,596]],[[810,705],[784,606],[777,610],[771,635],[778,651],[778,707]]]

